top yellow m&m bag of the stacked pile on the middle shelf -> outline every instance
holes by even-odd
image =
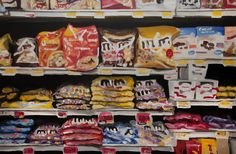
[[[129,76],[98,77],[92,82],[92,91],[99,90],[133,90],[134,80]]]

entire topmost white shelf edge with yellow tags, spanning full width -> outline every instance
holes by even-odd
[[[171,19],[173,17],[211,17],[236,16],[236,9],[177,9],[177,10],[11,10],[0,13],[6,17],[62,17],[62,18],[95,18],[106,17],[161,17]]]

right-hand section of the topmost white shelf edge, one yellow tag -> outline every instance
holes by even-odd
[[[177,17],[211,17],[236,16],[236,9],[177,9]]]

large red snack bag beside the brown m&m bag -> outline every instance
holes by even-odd
[[[96,26],[75,28],[68,25],[62,41],[69,70],[85,72],[97,67],[99,36]]]

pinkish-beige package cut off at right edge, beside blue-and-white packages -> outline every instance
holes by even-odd
[[[236,27],[225,27],[225,57],[236,56]]]

